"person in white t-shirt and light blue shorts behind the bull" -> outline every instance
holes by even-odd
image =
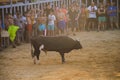
[[[56,20],[56,17],[53,14],[53,11],[51,11],[50,14],[48,15],[48,35],[50,36],[54,35],[55,20]]]

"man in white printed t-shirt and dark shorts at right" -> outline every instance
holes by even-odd
[[[92,24],[92,28],[94,29],[95,23],[96,23],[96,18],[97,18],[97,6],[95,6],[95,3],[92,2],[91,5],[87,8],[88,9],[88,30]]]

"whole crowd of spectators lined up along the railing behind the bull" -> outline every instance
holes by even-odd
[[[23,15],[19,11],[14,15],[6,14],[4,24],[0,18],[0,50],[8,46],[3,44],[2,31],[8,32],[10,43],[15,48],[22,42],[29,43],[32,36],[69,35],[81,31],[119,29],[117,13],[114,2],[106,5],[103,3],[96,5],[92,2],[88,7],[73,2],[69,7],[65,5],[52,7],[48,3],[43,9],[29,9]]]

